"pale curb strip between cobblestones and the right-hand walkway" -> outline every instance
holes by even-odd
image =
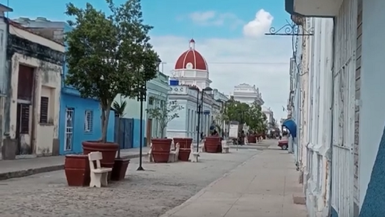
[[[197,199],[200,198],[200,196],[202,196],[203,194],[206,193],[207,190],[209,190],[212,186],[214,186],[215,184],[217,184],[217,182],[221,181],[222,179],[225,179],[228,175],[232,174],[234,171],[236,171],[237,169],[239,169],[240,167],[244,166],[245,164],[247,164],[248,162],[252,161],[252,159],[255,159],[255,157],[257,157],[259,153],[255,154],[253,157],[251,157],[250,159],[247,159],[245,162],[243,162],[242,164],[239,164],[238,166],[235,166],[234,169],[231,169],[230,171],[228,171],[227,173],[225,173],[222,177],[220,177],[219,179],[215,180],[215,181],[212,181],[212,183],[210,183],[208,186],[205,186],[205,188],[203,188],[202,190],[198,191],[197,194],[195,194],[194,196],[190,197],[190,199],[188,199],[187,201],[183,202],[182,204],[180,204],[179,206],[176,206],[172,209],[170,209],[169,211],[165,212],[162,216],[160,217],[172,217],[173,214],[177,213],[178,211],[182,210],[183,208],[185,208],[185,206],[188,206],[190,205],[191,203],[193,203],[194,201],[196,201]]]

